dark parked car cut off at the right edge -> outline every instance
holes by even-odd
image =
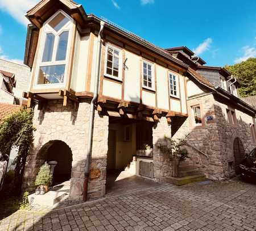
[[[242,179],[251,180],[256,183],[256,148],[249,154],[246,154],[239,167]]]

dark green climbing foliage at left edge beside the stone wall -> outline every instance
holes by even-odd
[[[33,112],[23,108],[7,116],[0,124],[0,161],[7,161],[11,148],[19,148],[18,156],[14,161],[16,166],[13,185],[17,193],[20,190],[28,150],[33,140],[32,117]]]

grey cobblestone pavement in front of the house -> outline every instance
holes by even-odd
[[[256,186],[162,184],[44,212],[16,211],[0,230],[256,230]]]

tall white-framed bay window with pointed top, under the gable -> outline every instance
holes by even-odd
[[[65,84],[71,33],[72,19],[63,11],[58,11],[44,24],[35,86]]]

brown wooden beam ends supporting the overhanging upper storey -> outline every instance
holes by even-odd
[[[59,90],[57,93],[59,99],[63,99],[63,106],[68,105],[68,101],[72,102],[77,108],[78,104],[83,99],[92,99],[93,95],[89,92],[76,93],[75,91]],[[42,110],[46,99],[38,93],[24,92],[23,97],[28,99],[27,107],[31,108],[36,103],[39,105],[38,109]],[[96,104],[96,110],[101,115],[112,117],[123,117],[126,119],[146,120],[150,122],[158,122],[161,117],[166,117],[168,123],[171,124],[172,117],[181,116],[188,117],[187,114],[182,114],[175,111],[168,111],[161,108],[150,107],[144,104],[135,102],[127,102],[124,100],[114,99],[107,96],[99,96]]]

